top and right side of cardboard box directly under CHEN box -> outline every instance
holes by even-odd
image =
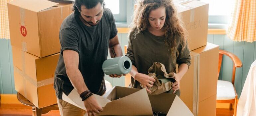
[[[217,74],[219,46],[207,43],[206,46],[193,50],[198,53],[198,102],[217,94]]]

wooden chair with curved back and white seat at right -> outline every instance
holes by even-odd
[[[220,67],[222,63],[223,55],[228,56],[233,61],[233,72],[232,72],[232,82],[218,80],[217,83],[217,103],[229,103],[229,110],[232,108],[232,104],[234,104],[234,116],[236,116],[236,108],[237,108],[237,93],[234,86],[235,81],[235,71],[236,68],[242,67],[242,62],[240,59],[225,50],[219,50],[219,66],[218,66],[218,77],[220,72]],[[217,77],[217,79],[218,79]]]

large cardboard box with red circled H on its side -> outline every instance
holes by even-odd
[[[11,45],[40,58],[60,52],[59,31],[71,1],[15,0],[7,4]]]

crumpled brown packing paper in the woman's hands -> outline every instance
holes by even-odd
[[[176,80],[173,78],[174,73],[167,73],[165,66],[159,62],[154,62],[153,65],[148,69],[150,77],[153,77],[156,82],[153,87],[149,87],[151,92],[150,95],[161,94],[163,92],[169,91]],[[143,85],[141,84],[141,87]]]

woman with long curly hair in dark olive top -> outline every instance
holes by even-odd
[[[131,87],[152,87],[156,81],[148,76],[154,62],[174,72],[177,80],[168,92],[180,95],[180,80],[190,66],[187,32],[171,0],[138,0],[129,32],[127,57],[132,61]],[[176,64],[179,71],[176,73]]]

